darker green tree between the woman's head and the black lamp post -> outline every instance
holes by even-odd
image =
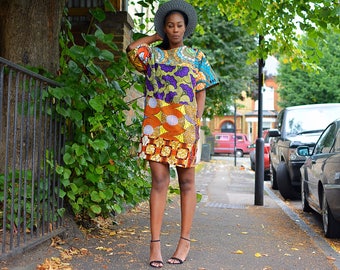
[[[205,116],[230,114],[230,105],[241,97],[241,92],[254,85],[256,65],[248,65],[248,54],[256,48],[256,41],[241,26],[226,20],[210,6],[198,11],[204,21],[186,42],[207,55],[220,85],[207,91]],[[255,71],[254,71],[255,70]]]

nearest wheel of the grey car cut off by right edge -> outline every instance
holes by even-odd
[[[325,192],[322,194],[321,214],[325,236],[327,238],[340,237],[340,224],[335,220],[331,210],[329,209]]]

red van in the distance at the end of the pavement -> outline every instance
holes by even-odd
[[[236,149],[234,133],[214,133],[214,153],[215,154],[236,154],[237,157],[242,157],[244,154],[249,154],[248,146],[250,141],[246,134],[236,134]]]

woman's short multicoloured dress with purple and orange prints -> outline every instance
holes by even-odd
[[[200,122],[195,95],[218,84],[205,55],[187,46],[162,50],[143,44],[128,56],[145,74],[138,155],[146,160],[194,167]]]

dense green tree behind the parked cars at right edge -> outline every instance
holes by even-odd
[[[294,67],[285,57],[281,59],[278,70],[279,94],[282,107],[340,102],[340,34],[328,34],[325,41],[315,40],[318,46],[319,69],[309,71]],[[302,48],[311,50],[304,39]]]

